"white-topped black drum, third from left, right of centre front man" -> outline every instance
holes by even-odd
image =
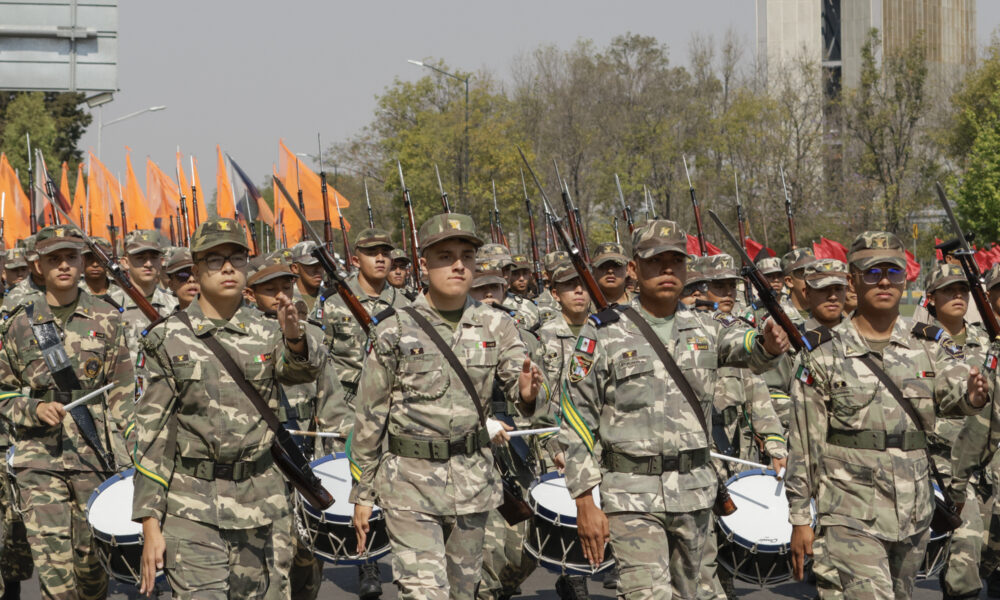
[[[560,575],[591,575],[614,564],[607,546],[604,562],[597,568],[591,567],[583,555],[576,531],[576,502],[570,497],[566,478],[561,473],[542,475],[532,484],[528,502],[535,515],[524,549],[540,565]],[[601,505],[597,488],[594,488],[594,502]]]

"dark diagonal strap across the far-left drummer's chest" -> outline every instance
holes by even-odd
[[[54,321],[35,323],[34,304],[28,304],[24,311],[25,316],[28,317],[28,322],[31,323],[31,334],[35,337],[38,349],[41,350],[45,364],[49,367],[52,381],[59,388],[57,392],[52,393],[52,398],[60,404],[69,404],[73,399],[73,393],[79,393],[82,390],[80,389],[80,379],[76,376],[73,364],[70,362],[69,355],[66,354],[66,348],[63,346],[59,328],[56,327]],[[115,471],[114,456],[110,452],[105,451],[104,445],[101,444],[101,436],[97,432],[97,424],[94,423],[94,417],[90,414],[90,409],[86,406],[77,406],[71,409],[69,414],[73,417],[73,422],[76,423],[84,441],[97,454],[97,460],[101,463],[101,467],[105,472],[113,473]]]

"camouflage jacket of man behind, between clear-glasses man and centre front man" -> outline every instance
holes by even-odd
[[[376,297],[361,291],[357,277],[349,280],[349,286],[372,316],[390,306],[402,308],[410,305],[403,291],[388,283]],[[326,328],[326,344],[333,355],[333,368],[337,376],[349,392],[354,392],[361,373],[361,363],[365,359],[365,332],[340,298],[340,294],[334,291],[324,293],[329,295],[320,296],[320,302],[317,302],[319,308],[314,311],[313,318]]]

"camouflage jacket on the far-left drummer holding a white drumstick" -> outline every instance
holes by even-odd
[[[80,292],[76,310],[65,326],[49,310],[45,296],[14,309],[4,321],[0,352],[0,414],[17,432],[14,466],[57,471],[104,471],[94,450],[66,415],[57,427],[38,419],[40,402],[51,401],[57,388],[35,341],[32,324],[55,322],[63,346],[83,390],[115,383],[103,399],[87,404],[105,452],[113,452],[119,466],[129,463],[124,432],[132,419],[135,379],[123,344],[122,317],[107,303]],[[30,310],[29,310],[30,306]],[[34,315],[29,322],[28,313]],[[26,394],[26,395],[25,395]],[[80,395],[79,393],[74,396]]]

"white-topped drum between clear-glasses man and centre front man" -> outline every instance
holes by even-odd
[[[362,564],[373,562],[389,553],[389,534],[385,529],[385,515],[379,507],[372,509],[369,520],[368,547],[357,553],[357,535],[354,531],[354,505],[351,495],[351,465],[343,452],[330,454],[310,463],[313,472],[323,482],[323,487],[335,502],[326,510],[313,508],[296,494],[295,510],[299,525],[304,529],[303,542],[318,558],[334,564]]]

